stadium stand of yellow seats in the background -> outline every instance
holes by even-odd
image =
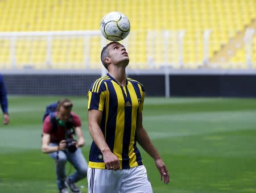
[[[168,63],[172,68],[193,69],[203,64],[204,31],[211,30],[209,58],[214,58],[224,45],[229,44],[230,38],[236,38],[238,32],[245,32],[246,27],[256,19],[255,7],[255,0],[2,0],[0,31],[99,30],[102,16],[118,10],[125,13],[131,23],[131,35],[124,41],[131,56],[130,68],[150,68],[150,63],[160,68]],[[182,61],[177,50],[178,32],[181,30],[185,31]],[[148,31],[151,31],[151,36],[148,36]],[[50,66],[65,69],[70,68],[69,64],[72,64],[72,68],[85,68],[83,38],[53,40],[51,64],[45,62],[47,46],[44,38],[17,40],[15,66],[10,58],[11,41],[0,39],[1,68],[47,69]],[[164,46],[166,40],[168,44]],[[94,47],[90,50],[90,66],[86,68],[100,68],[97,65],[100,64],[100,37],[93,37],[88,41]],[[244,49],[244,46],[238,49],[220,68],[247,68]],[[163,54],[166,52],[167,54]],[[252,67],[256,68],[255,35],[252,56]],[[178,65],[181,63],[183,66]],[[230,65],[231,63],[234,65]]]

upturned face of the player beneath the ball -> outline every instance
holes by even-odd
[[[119,64],[122,62],[123,64],[126,64],[126,66],[129,63],[129,56],[126,52],[125,47],[122,44],[119,43],[113,43],[109,46],[109,58],[112,61],[113,64]]]

